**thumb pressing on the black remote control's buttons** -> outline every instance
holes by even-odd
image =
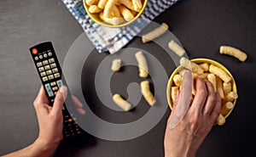
[[[67,87],[62,86],[60,87],[60,89],[58,90],[58,93],[56,94],[55,102],[52,107],[53,113],[56,114],[61,112],[62,106],[66,98],[67,98]]]

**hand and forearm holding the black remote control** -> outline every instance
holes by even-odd
[[[67,97],[67,87],[60,87],[55,96],[53,106],[49,106],[49,100],[42,86],[39,90],[37,98],[34,100],[34,108],[38,116],[39,135],[34,143],[25,149],[20,149],[11,154],[3,155],[3,157],[49,157],[63,138],[63,115],[62,105]],[[85,111],[79,99],[72,96],[73,102],[77,107],[79,114],[84,115]]]

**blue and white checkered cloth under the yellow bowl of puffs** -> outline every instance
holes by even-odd
[[[122,28],[108,28],[96,24],[86,13],[83,0],[61,1],[73,14],[100,53],[104,51],[116,53],[120,48],[123,48],[130,42],[134,36],[137,36],[148,25],[150,20],[154,20],[157,15],[171,7],[174,3],[177,3],[178,0],[148,0],[148,5],[141,18],[134,21],[131,25]]]

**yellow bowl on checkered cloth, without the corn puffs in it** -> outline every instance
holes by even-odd
[[[146,6],[147,6],[148,0],[143,0],[143,1],[144,1],[144,3],[143,3],[143,8],[141,9],[141,11],[138,12],[138,13],[136,14],[136,16],[135,16],[131,21],[125,22],[124,24],[121,24],[121,25],[111,25],[111,24],[108,24],[108,23],[102,21],[102,20],[99,18],[99,15],[98,15],[98,14],[91,14],[91,13],[89,12],[89,6],[85,3],[85,0],[84,0],[83,2],[84,2],[84,8],[85,8],[87,14],[88,14],[88,15],[90,16],[90,18],[91,18],[92,20],[94,20],[97,24],[103,25],[103,26],[107,26],[107,27],[112,27],[112,28],[118,28],[118,27],[123,27],[123,26],[126,26],[126,25],[130,25],[132,22],[134,22],[135,20],[137,20],[137,19],[141,16],[141,14],[143,14],[143,11],[144,11],[144,9],[145,9]]]

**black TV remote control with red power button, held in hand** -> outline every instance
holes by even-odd
[[[53,105],[55,94],[62,84],[66,84],[61,74],[61,66],[55,55],[51,42],[43,42],[30,48],[32,59],[38,70],[38,75],[44,85],[44,90],[49,98],[49,105]],[[70,95],[67,94],[70,98]],[[82,129],[76,123],[76,117],[67,111],[66,104],[62,107],[63,113],[63,136],[73,137],[82,133]]]

